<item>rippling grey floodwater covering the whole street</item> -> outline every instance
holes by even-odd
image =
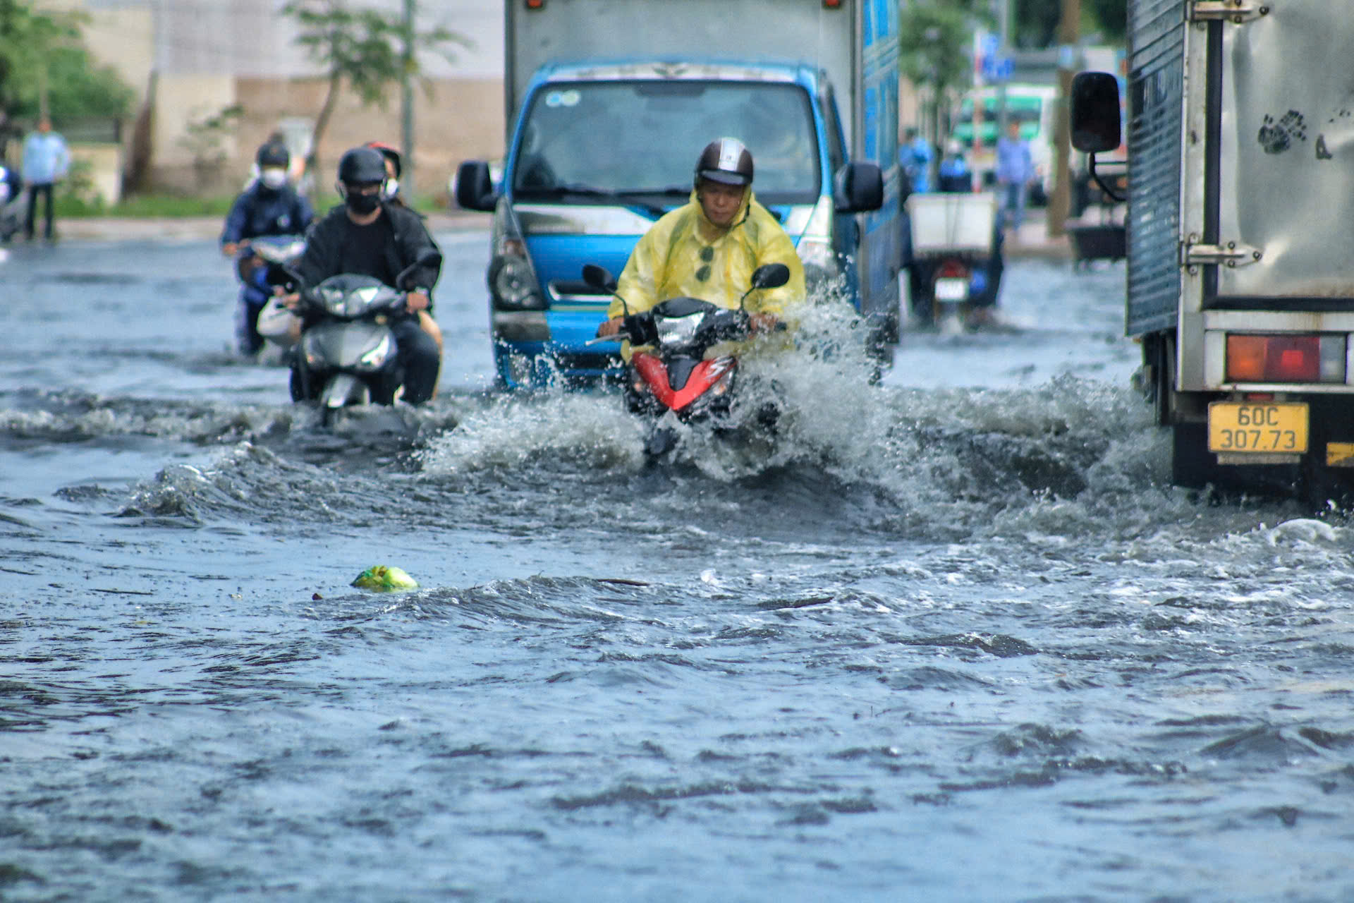
[[[1354,899],[1354,532],[1167,485],[1121,265],[646,467],[440,238],[440,395],[334,431],[211,242],[0,263],[0,898]]]

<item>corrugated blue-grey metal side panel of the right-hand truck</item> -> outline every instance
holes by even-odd
[[[1186,0],[1128,9],[1128,309],[1131,336],[1175,324]]]

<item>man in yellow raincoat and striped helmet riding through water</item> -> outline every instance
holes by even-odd
[[[617,298],[607,310],[611,320],[597,334],[615,336],[626,314],[669,298],[737,307],[753,271],[781,263],[789,267],[789,282],[754,291],[746,301],[753,329],[774,329],[804,299],[804,267],[776,217],[753,198],[751,183],[753,156],[741,141],[720,138],[707,145],[696,162],[691,200],[665,214],[635,245],[620,273]]]

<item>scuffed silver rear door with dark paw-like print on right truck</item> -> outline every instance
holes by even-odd
[[[1354,16],[1328,0],[1285,0],[1265,15],[1244,5],[1240,24],[1205,26],[1216,141],[1201,229],[1186,232],[1186,263],[1204,267],[1201,306],[1354,311],[1354,87],[1317,72],[1343,70]]]

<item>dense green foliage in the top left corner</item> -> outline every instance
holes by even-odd
[[[80,46],[83,22],[0,0],[0,110],[11,119],[37,119],[43,93],[57,123],[127,115],[134,92]]]

